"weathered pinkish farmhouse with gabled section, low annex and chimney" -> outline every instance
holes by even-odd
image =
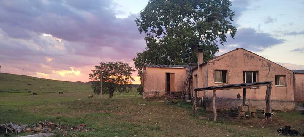
[[[198,66],[199,64],[199,66]],[[291,71],[243,48],[237,48],[219,57],[203,62],[199,51],[198,63],[189,65],[144,65],[142,98],[194,99],[194,88],[218,85],[272,81],[271,107],[274,110],[294,109],[295,101],[304,101],[304,73]],[[246,99],[258,109],[266,108],[267,87],[248,88]],[[243,89],[217,90],[217,109],[236,109],[242,105]],[[238,97],[237,97],[238,96]],[[212,90],[199,91],[198,106],[204,100],[212,108]]]

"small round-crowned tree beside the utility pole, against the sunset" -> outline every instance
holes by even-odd
[[[102,72],[102,94],[109,93],[109,98],[113,97],[115,91],[131,91],[131,82],[134,81],[132,72],[135,70],[129,63],[122,61],[102,62],[101,66],[95,66],[89,79],[93,80],[92,89],[95,94],[100,94],[100,71]]]

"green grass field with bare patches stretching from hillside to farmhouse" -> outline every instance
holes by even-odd
[[[52,131],[57,136],[278,136],[276,130],[285,125],[304,133],[304,115],[299,111],[275,111],[272,122],[263,122],[260,114],[258,119],[232,119],[225,114],[235,111],[219,111],[218,121],[213,122],[197,118],[212,119],[211,111],[194,115],[190,104],[178,100],[142,100],[136,89],[112,99],[107,94],[102,100],[99,95],[88,99],[93,92],[86,83],[5,73],[0,73],[0,91],[0,124],[61,121],[64,131]],[[88,125],[85,133],[75,128],[80,124]]]

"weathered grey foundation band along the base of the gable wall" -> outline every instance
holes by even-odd
[[[206,100],[207,109],[212,109],[212,98]],[[248,100],[246,103],[248,104]],[[265,100],[253,100],[250,99],[250,104],[256,106],[257,109],[266,109],[266,101]],[[216,109],[237,109],[238,105],[242,105],[242,100],[238,99],[223,99],[216,98],[215,101]],[[273,110],[291,110],[295,108],[294,100],[271,100],[271,108]]]

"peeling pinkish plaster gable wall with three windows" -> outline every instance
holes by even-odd
[[[203,79],[208,80],[206,86],[223,85],[222,83],[214,83],[213,76],[215,70],[227,71],[227,83],[224,84],[244,83],[243,71],[258,71],[257,81],[273,81],[271,89],[271,100],[289,100],[289,102],[293,102],[288,104],[283,104],[284,102],[282,102],[282,105],[285,105],[284,108],[282,106],[276,107],[279,106],[279,103],[276,103],[275,106],[272,105],[274,107],[273,109],[294,108],[293,73],[280,65],[277,65],[256,54],[239,48],[208,61],[206,66],[207,67],[203,65],[202,67],[207,68],[207,78],[205,76],[205,78],[200,79],[201,82],[204,81]],[[275,86],[275,75],[286,76],[286,86]],[[229,104],[231,103],[231,100],[237,99],[238,93],[243,96],[243,89],[217,90],[216,97],[217,99],[221,99],[222,102],[225,102],[226,100],[226,109],[230,109],[232,106]],[[212,90],[207,91],[206,94],[207,97],[212,98]],[[265,94],[266,87],[260,87],[259,89],[247,89],[246,99],[261,100],[265,102]],[[199,97],[202,97],[202,94],[200,94]],[[252,105],[260,105],[260,103],[254,104],[253,102]]]

